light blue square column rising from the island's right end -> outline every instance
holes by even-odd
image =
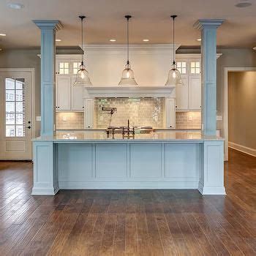
[[[201,31],[202,129],[203,135],[215,136],[217,130],[217,28],[224,20],[197,20]]]

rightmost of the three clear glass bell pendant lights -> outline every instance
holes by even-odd
[[[174,46],[174,20],[177,15],[171,15],[170,18],[173,19],[173,64],[169,71],[167,81],[165,86],[177,86],[179,84],[183,84],[181,80],[181,73],[177,69],[176,61],[175,61],[175,46]]]

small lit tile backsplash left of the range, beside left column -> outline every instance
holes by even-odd
[[[56,129],[83,129],[83,112],[57,112]]]

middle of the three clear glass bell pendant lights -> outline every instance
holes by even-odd
[[[137,86],[138,83],[135,81],[134,73],[129,64],[129,19],[132,18],[130,15],[125,15],[124,18],[127,19],[127,64],[121,75],[121,80],[118,83],[118,86]]]

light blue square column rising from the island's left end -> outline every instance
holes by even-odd
[[[59,20],[33,20],[41,29],[41,137],[55,128],[55,33]]]

